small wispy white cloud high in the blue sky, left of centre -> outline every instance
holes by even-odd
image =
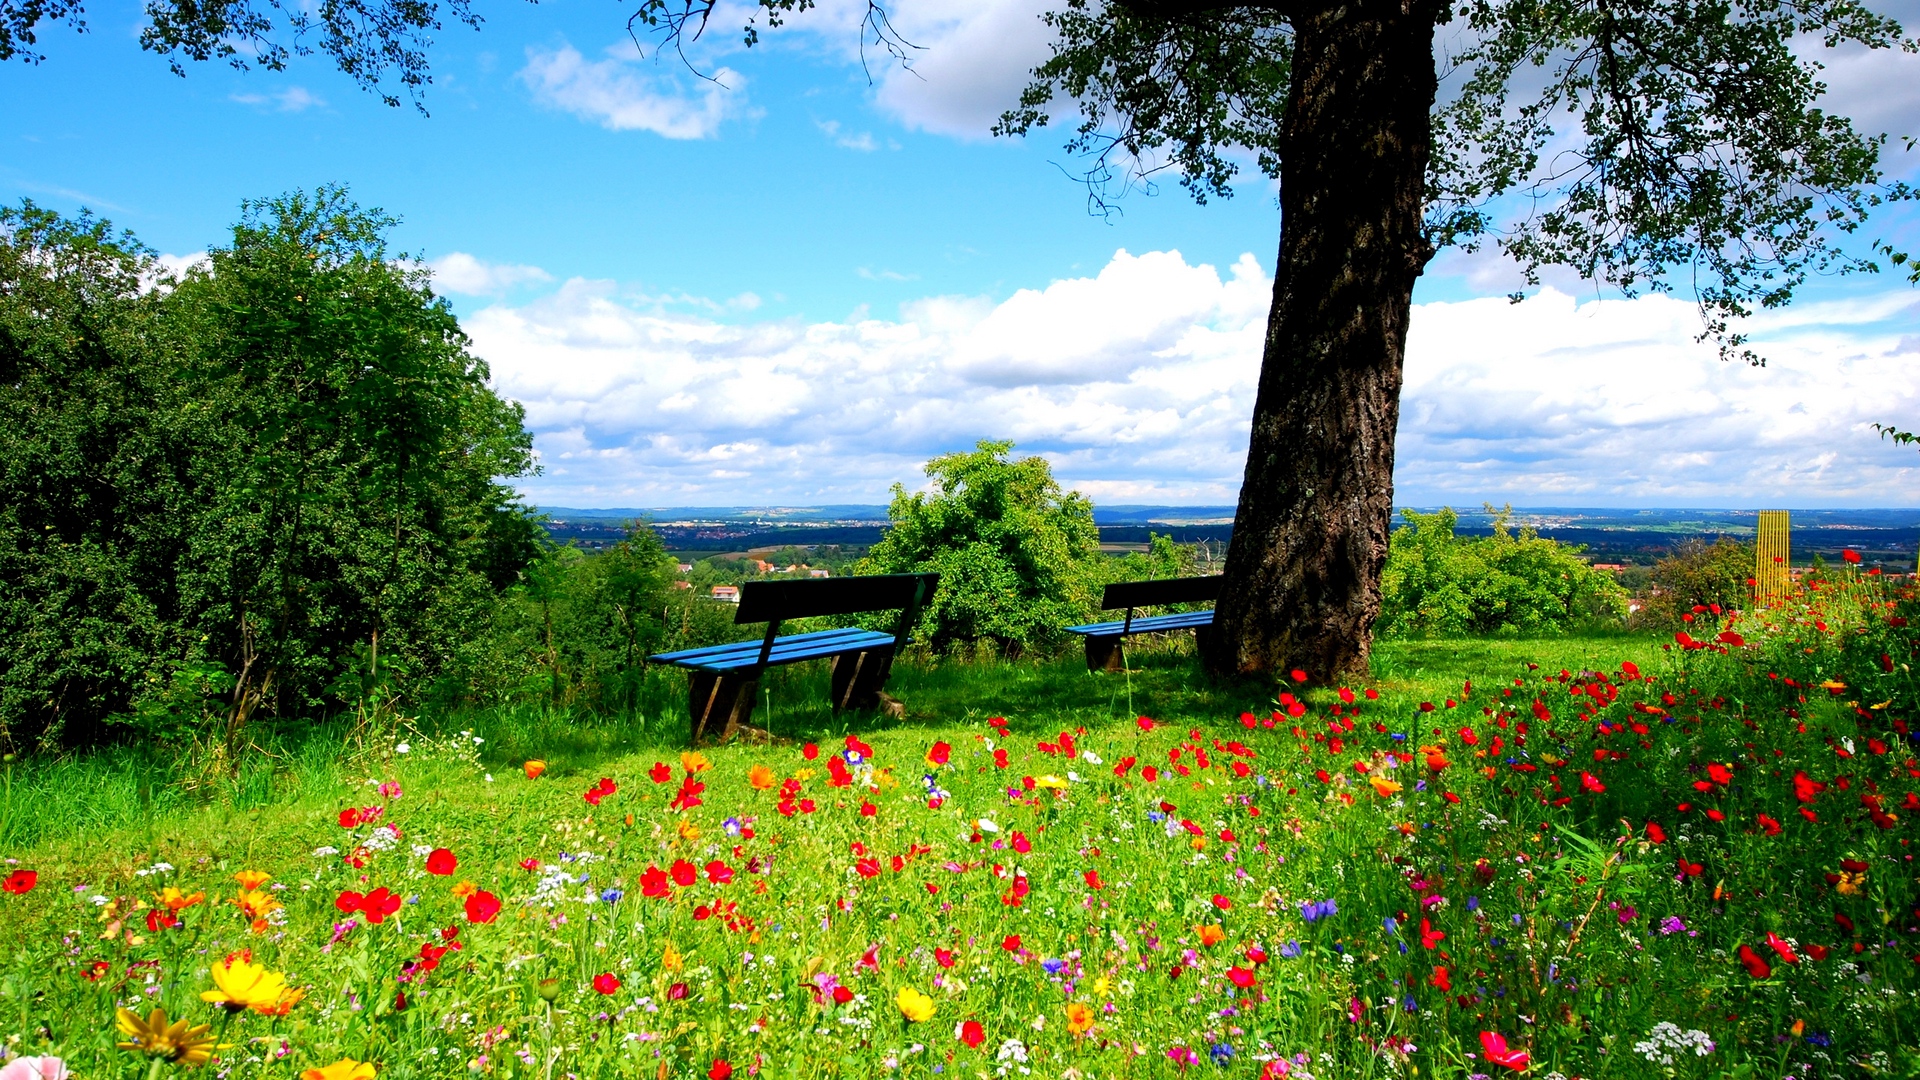
[[[651,131],[664,138],[712,138],[747,104],[745,77],[728,67],[716,69],[710,79],[697,79],[695,92],[687,94],[676,79],[641,75],[620,58],[589,61],[570,44],[528,48],[520,81],[547,108],[597,121],[609,131]]]

